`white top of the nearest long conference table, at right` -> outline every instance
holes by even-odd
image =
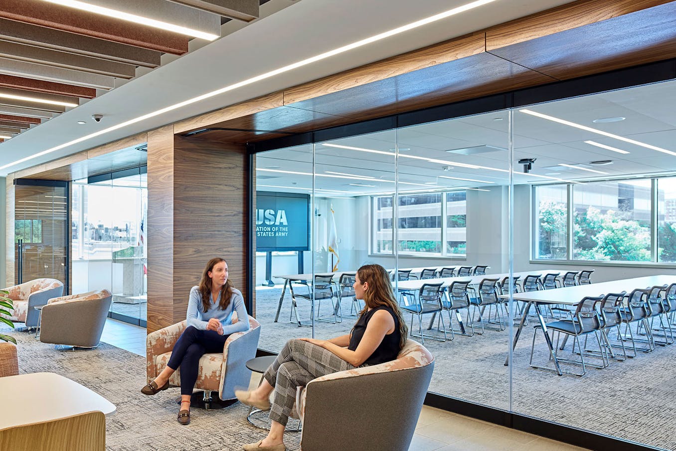
[[[565,287],[529,291],[527,293],[514,293],[514,299],[525,302],[546,302],[548,304],[579,304],[586,296],[600,296],[608,293],[620,293],[636,288],[654,287],[655,285],[670,285],[676,282],[676,276],[656,275],[648,277],[636,277],[634,279],[622,279],[619,281],[592,283],[591,285],[579,285],[577,287]],[[502,295],[501,298],[508,298]]]

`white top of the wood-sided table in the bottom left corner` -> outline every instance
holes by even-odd
[[[0,429],[93,411],[110,416],[116,411],[103,396],[54,373],[0,377],[0,397],[6,407]]]

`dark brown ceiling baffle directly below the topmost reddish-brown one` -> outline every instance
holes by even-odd
[[[0,18],[0,39],[146,68],[160,66],[160,57],[162,56],[159,51],[103,41],[80,34],[52,30],[51,28],[36,27],[2,18]]]

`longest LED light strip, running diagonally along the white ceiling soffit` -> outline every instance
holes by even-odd
[[[47,1],[47,0],[45,0]],[[187,99],[185,101],[179,102],[179,103],[174,103],[174,105],[169,105],[168,107],[162,108],[160,110],[156,110],[154,112],[144,114],[143,116],[139,116],[137,118],[133,118],[130,120],[127,120],[125,122],[121,122],[120,124],[116,124],[113,126],[110,126],[108,128],[103,128],[102,130],[99,130],[95,133],[90,133],[89,135],[85,135],[83,137],[79,137],[77,139],[73,139],[72,141],[68,141],[67,143],[63,143],[60,145],[57,145],[55,147],[51,147],[47,150],[43,150],[41,152],[35,153],[34,155],[28,156],[26,158],[22,158],[20,160],[16,160],[15,162],[11,162],[9,164],[5,164],[5,166],[0,166],[0,170],[9,168],[10,166],[14,166],[16,164],[20,164],[23,162],[26,162],[28,160],[31,160],[32,158],[37,158],[40,156],[43,156],[47,153],[51,153],[57,150],[64,149],[65,147],[68,147],[70,145],[74,145],[77,143],[81,143],[82,141],[87,141],[88,139],[95,138],[97,136],[103,135],[105,133],[110,133],[114,130],[118,130],[120,128],[124,128],[128,125],[136,124],[137,122],[141,122],[143,120],[147,120],[149,118],[153,118],[155,116],[159,116],[160,114],[168,113],[174,110],[177,110],[178,108],[183,108],[187,105],[191,105],[193,103],[203,101],[205,99],[209,99],[210,97],[214,97],[215,95],[220,95],[223,93],[226,93],[228,91],[234,91],[235,89],[239,89],[241,87],[251,85],[252,83],[259,82],[260,80],[266,80],[267,78],[283,74],[285,72],[289,72],[289,70],[297,69],[303,66],[307,66],[308,64],[312,64],[321,60],[325,60],[328,57],[339,55],[341,53],[345,53],[346,51],[350,51],[353,49],[358,49],[359,47],[364,47],[364,45],[368,45],[370,43],[375,43],[377,41],[381,41],[383,39],[395,36],[396,34],[401,34],[403,32],[406,32],[408,30],[413,30],[414,28],[418,28],[420,26],[424,26],[427,24],[431,24],[433,22],[437,22],[437,20],[442,20],[445,18],[448,18],[450,16],[455,16],[456,14],[463,13],[464,11],[468,11],[470,9],[474,9],[479,6],[487,5],[488,3],[493,3],[493,1],[497,0],[477,0],[473,1],[470,3],[467,3],[466,5],[458,6],[453,9],[449,9],[448,11],[443,11],[442,13],[435,14],[434,16],[429,16],[428,18],[424,18],[421,20],[417,20],[416,22],[411,22],[410,24],[406,24],[404,26],[400,26],[398,28],[393,28],[392,30],[388,30],[385,32],[382,32],[380,34],[375,34],[375,36],[368,37],[366,39],[362,39],[360,41],[356,41],[351,44],[343,45],[342,47],[337,47],[336,49],[326,51],[324,53],[320,53],[319,55],[314,55],[312,57],[306,58],[305,60],[301,60],[299,62],[295,62],[293,64],[289,64],[287,66],[283,66],[279,69],[271,70],[270,72],[265,72],[264,74],[260,74],[251,78],[247,78],[246,80],[242,80],[240,82],[234,83],[233,85],[228,85],[226,87],[222,87],[221,89],[216,89],[216,91],[211,91],[210,93],[198,95],[197,97],[193,97],[192,99]]]

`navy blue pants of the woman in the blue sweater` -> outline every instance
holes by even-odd
[[[197,373],[199,358],[212,352],[223,352],[223,346],[230,335],[218,335],[216,331],[202,331],[189,326],[176,341],[167,366],[177,370],[180,366],[180,394],[191,395]]]

